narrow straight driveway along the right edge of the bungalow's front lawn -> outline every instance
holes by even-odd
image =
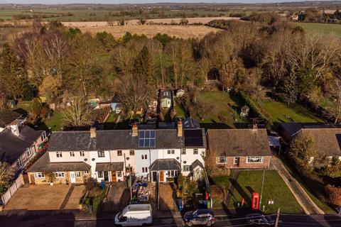
[[[297,199],[298,203],[302,206],[305,214],[325,214],[325,212],[318,207],[312,199],[308,196],[307,192],[301,187],[301,184],[293,177],[291,170],[289,170],[279,157],[271,157],[271,168],[278,171],[284,182],[288,185],[289,189],[293,193],[293,196]]]

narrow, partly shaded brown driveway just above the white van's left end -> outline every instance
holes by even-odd
[[[129,199],[130,192],[126,182],[112,182],[104,202],[103,211],[121,211],[128,205]]]

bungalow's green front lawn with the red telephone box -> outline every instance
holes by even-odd
[[[252,192],[261,194],[262,170],[241,171],[234,185],[232,199],[228,204],[229,209],[237,209],[237,204],[245,199],[244,208],[249,208],[251,204]],[[274,204],[268,204],[273,200]],[[284,214],[302,214],[300,204],[296,201],[290,189],[283,182],[283,179],[275,170],[266,170],[264,178],[264,191],[261,202],[261,209],[265,206],[266,214],[273,214],[278,208]]]

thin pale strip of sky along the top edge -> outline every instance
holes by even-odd
[[[144,4],[160,2],[179,3],[277,3],[283,1],[304,1],[304,0],[0,0],[0,4]]]

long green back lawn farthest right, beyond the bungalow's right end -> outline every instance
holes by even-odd
[[[303,123],[323,122],[320,118],[314,116],[313,113],[297,104],[288,106],[282,102],[271,100],[262,102],[260,106],[272,118],[274,118],[274,121],[290,122],[292,118],[293,121],[295,122]]]

